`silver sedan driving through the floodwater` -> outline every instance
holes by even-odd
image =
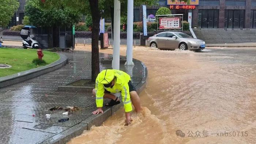
[[[149,37],[147,46],[159,49],[200,50],[205,48],[205,42],[185,33],[166,31]]]

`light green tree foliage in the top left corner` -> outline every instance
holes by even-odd
[[[18,8],[18,0],[0,0],[0,26],[7,26]]]

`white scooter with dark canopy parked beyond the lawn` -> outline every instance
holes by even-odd
[[[38,49],[38,42],[33,35],[33,31],[36,31],[36,27],[26,25],[20,31],[20,37],[22,38],[23,48]]]

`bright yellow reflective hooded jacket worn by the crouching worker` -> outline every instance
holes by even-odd
[[[114,86],[112,88],[104,87],[103,84],[109,84],[110,82],[112,82],[114,77],[116,77]],[[103,95],[106,89],[107,91],[112,93],[121,92],[125,112],[132,111],[132,104],[128,86],[129,80],[131,80],[131,77],[123,71],[119,71],[116,69],[105,69],[101,71],[98,74],[95,82],[97,107],[103,107]]]

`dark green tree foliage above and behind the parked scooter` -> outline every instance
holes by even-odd
[[[34,26],[71,26],[80,19],[78,12],[69,10],[63,4],[59,7],[50,5],[48,9],[42,9],[38,0],[27,0],[25,14]]]

